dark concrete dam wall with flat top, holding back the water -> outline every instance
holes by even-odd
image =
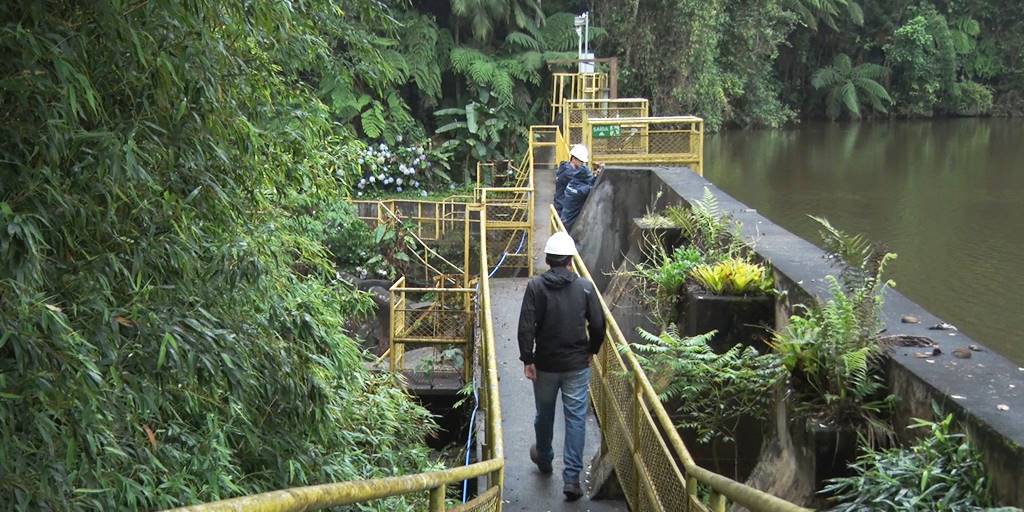
[[[825,278],[837,275],[839,269],[826,259],[825,251],[702,177],[675,167],[608,169],[591,193],[572,236],[630,341],[639,339],[638,327],[656,329],[635,296],[636,287],[628,283],[629,278],[616,274],[630,270],[639,260],[642,236],[634,219],[670,205],[690,205],[701,200],[706,188],[717,198],[722,214],[741,223],[741,237],[772,269],[781,292],[776,301],[776,330],[785,326],[797,304],[812,304],[829,296]],[[905,324],[905,316],[914,316],[920,323]],[[997,501],[1024,507],[1024,368],[964,333],[929,329],[943,321],[895,290],[886,291],[882,317],[884,336],[928,338],[941,352],[923,358],[914,353],[918,348],[896,346],[889,350],[886,377],[890,391],[899,397],[895,411],[898,434],[909,438],[902,427],[911,418],[932,419],[932,402],[938,403],[942,411],[955,415],[982,454]],[[955,349],[970,346],[970,358],[952,355]],[[777,394],[774,421],[765,428],[769,433],[748,482],[781,498],[811,504],[827,462],[815,453],[806,428],[797,426],[784,393]]]

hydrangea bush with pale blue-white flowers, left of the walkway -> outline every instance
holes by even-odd
[[[370,144],[357,163],[361,177],[355,183],[356,197],[376,197],[390,194],[409,194],[426,197],[429,193],[447,189],[452,179],[447,175],[450,155],[426,147],[424,143],[396,144],[385,142]]]

